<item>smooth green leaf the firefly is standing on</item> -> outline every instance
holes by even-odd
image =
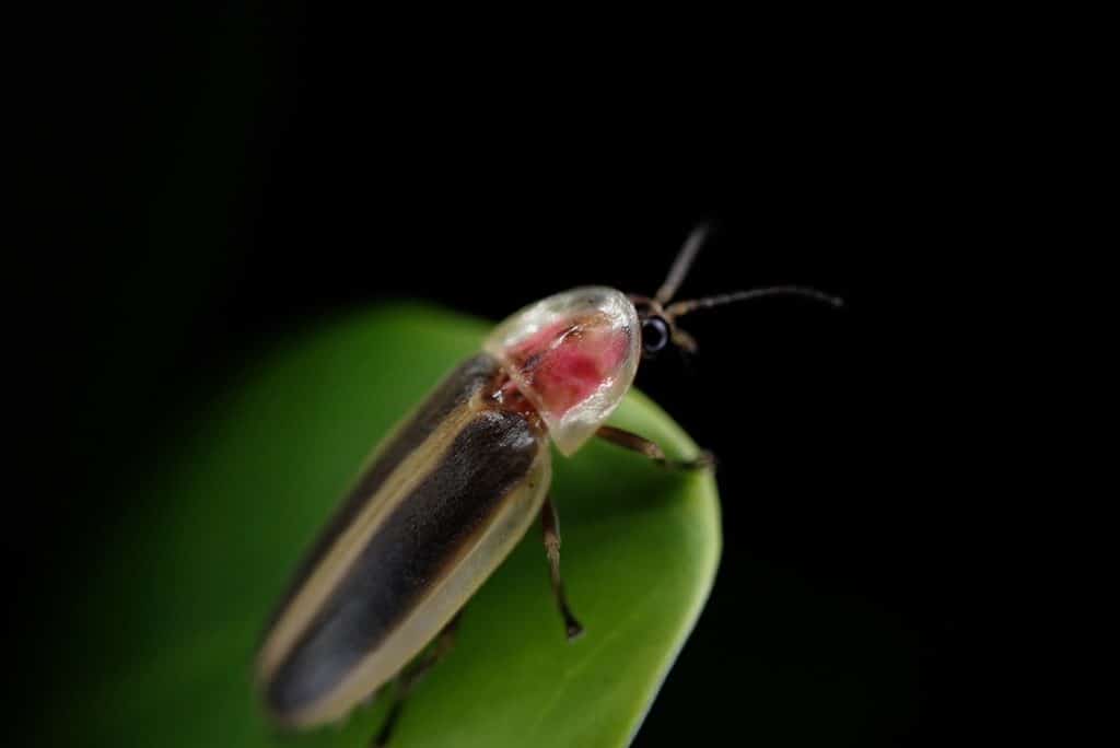
[[[344,724],[278,735],[252,684],[264,620],[372,446],[486,327],[418,306],[324,325],[273,352],[137,470],[134,512],[92,570],[75,620],[83,663],[40,726],[63,745],[364,747],[385,699]],[[632,392],[612,422],[671,456],[696,446]],[[629,742],[711,588],[710,474],[674,474],[592,440],[556,456],[562,565],[585,636],[569,643],[532,532],[467,606],[451,654],[417,688],[400,748]],[[36,744],[39,745],[39,744]]]

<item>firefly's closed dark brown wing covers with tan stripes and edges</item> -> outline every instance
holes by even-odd
[[[286,724],[345,716],[454,617],[536,517],[543,426],[492,395],[497,361],[459,366],[366,467],[311,549],[259,657]]]

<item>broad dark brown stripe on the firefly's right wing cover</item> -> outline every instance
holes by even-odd
[[[284,656],[268,688],[272,710],[292,713],[336,688],[450,571],[542,448],[542,434],[517,413],[485,410],[466,424]]]

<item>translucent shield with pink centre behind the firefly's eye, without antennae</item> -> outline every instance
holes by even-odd
[[[484,345],[571,455],[622,402],[642,352],[634,305],[620,291],[577,288],[507,318]]]

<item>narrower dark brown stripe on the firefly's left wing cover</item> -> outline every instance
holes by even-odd
[[[327,526],[319,533],[310,551],[300,561],[288,591],[269,619],[267,630],[276,626],[280,616],[291,604],[300,588],[315,571],[323,557],[330,550],[355,516],[365,507],[385,478],[404,458],[424,442],[432,431],[439,428],[444,419],[457,408],[465,405],[478,390],[494,381],[498,372],[498,363],[493,356],[480,353],[463,362],[439,387],[420,405],[416,414],[408,420],[393,437],[392,441],[379,455],[376,461],[370,465],[357,483],[351,488],[346,499],[335,511]]]

